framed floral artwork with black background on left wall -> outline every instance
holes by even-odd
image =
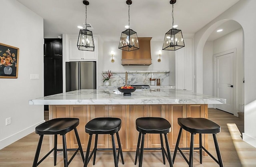
[[[18,78],[19,48],[0,43],[0,78]]]

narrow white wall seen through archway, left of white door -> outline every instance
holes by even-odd
[[[203,51],[203,94],[213,95],[213,42],[208,41],[204,45]],[[208,108],[213,105],[209,104]]]

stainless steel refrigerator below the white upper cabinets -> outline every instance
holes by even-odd
[[[96,89],[96,62],[66,62],[66,92]]]

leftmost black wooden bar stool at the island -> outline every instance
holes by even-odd
[[[78,132],[76,127],[79,125],[79,119],[78,118],[55,118],[50,119],[49,121],[46,121],[36,127],[36,134],[40,135],[40,139],[38,142],[38,146],[36,149],[36,155],[34,158],[34,163],[32,167],[38,166],[52,151],[54,151],[54,166],[56,166],[56,159],[57,159],[57,151],[63,151],[63,158],[64,158],[64,167],[68,167],[72,159],[75,157],[76,153],[80,151],[82,160],[84,161],[84,153],[81,146],[81,142],[78,136]],[[72,131],[74,129],[74,132],[76,134],[76,140],[78,143],[77,149],[67,149],[66,147],[66,133]],[[54,148],[49,151],[39,162],[38,157],[40,154],[40,149],[42,146],[42,141],[44,135],[54,135]],[[62,135],[62,144],[63,149],[57,149],[57,135]],[[67,157],[67,151],[75,151],[75,153],[72,155],[70,160],[68,161]]]

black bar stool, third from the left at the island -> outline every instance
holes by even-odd
[[[168,138],[167,138],[167,133],[171,131],[171,124],[166,119],[161,117],[140,117],[136,119],[136,129],[139,132],[139,137],[138,137],[138,144],[137,144],[134,164],[136,165],[137,159],[139,157],[139,167],[142,167],[144,150],[162,150],[163,163],[165,164],[165,158],[164,158],[164,155],[165,155],[168,162],[170,163],[170,167],[173,167],[170,147],[169,147]],[[161,148],[144,148],[144,135],[146,133],[160,134]],[[166,150],[164,149],[162,134],[164,134]],[[141,139],[141,136],[142,136],[142,139]],[[140,146],[140,140],[141,140],[141,146]]]

